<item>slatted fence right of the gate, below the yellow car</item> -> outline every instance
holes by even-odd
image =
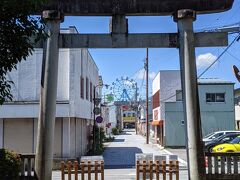
[[[205,153],[207,179],[240,179],[240,153]]]

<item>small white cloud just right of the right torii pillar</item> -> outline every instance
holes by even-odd
[[[212,53],[200,54],[197,56],[197,68],[202,69],[208,67],[217,59],[217,56],[213,55]]]

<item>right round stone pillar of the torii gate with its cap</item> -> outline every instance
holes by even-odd
[[[196,12],[178,10],[174,20],[178,25],[183,109],[186,126],[188,175],[190,180],[206,179],[199,107],[197,68],[195,60],[193,21]]]

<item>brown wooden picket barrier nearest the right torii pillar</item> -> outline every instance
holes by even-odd
[[[172,180],[175,176],[176,180],[179,180],[179,162],[178,161],[169,161],[169,164],[166,164],[166,161],[137,161],[136,164],[136,180],[146,180],[147,175],[149,179],[159,180],[160,174],[162,174],[162,179],[166,180],[168,177],[169,180]]]

